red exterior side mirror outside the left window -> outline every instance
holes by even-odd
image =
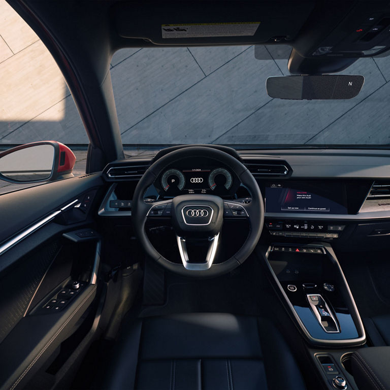
[[[66,145],[42,141],[0,153],[0,179],[11,183],[53,181],[72,175],[76,157]]]

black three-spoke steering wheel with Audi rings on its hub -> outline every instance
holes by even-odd
[[[158,175],[182,158],[211,158],[229,166],[242,185],[251,194],[251,202],[223,201],[209,194],[179,195],[172,200],[146,203],[144,193]],[[170,215],[176,233],[182,264],[171,262],[162,256],[149,241],[145,223],[148,218]],[[218,248],[223,219],[247,218],[250,231],[242,247],[226,261],[213,264]],[[263,230],[264,204],[262,193],[248,169],[235,157],[211,147],[190,146],[172,151],[156,160],[137,184],[133,197],[132,220],[136,236],[146,253],[158,264],[170,271],[192,277],[213,277],[230,272],[242,264],[255,248]],[[187,244],[206,242],[204,261],[194,262],[188,257]]]

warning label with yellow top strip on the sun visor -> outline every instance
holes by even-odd
[[[260,22],[162,24],[163,38],[253,36]]]

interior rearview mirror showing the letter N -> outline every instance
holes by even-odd
[[[267,93],[276,99],[352,99],[359,94],[363,84],[364,77],[358,75],[269,77]]]

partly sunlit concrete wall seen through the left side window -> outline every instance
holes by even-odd
[[[23,19],[0,0],[0,144],[88,143],[60,70]]]

